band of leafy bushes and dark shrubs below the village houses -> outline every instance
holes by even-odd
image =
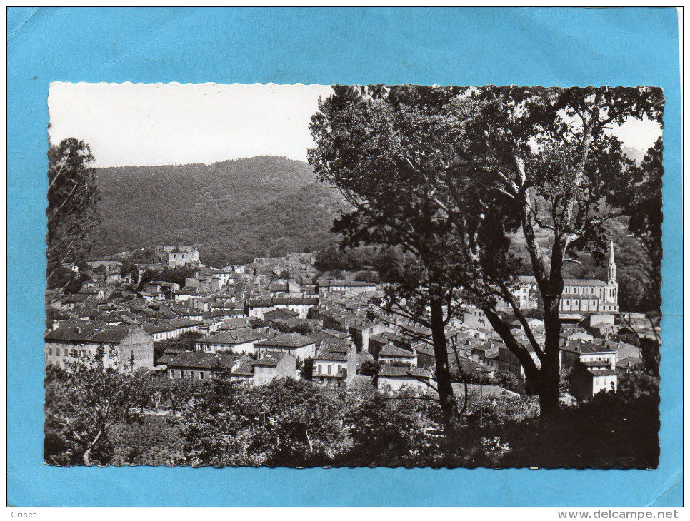
[[[44,457],[53,465],[652,468],[658,389],[653,376],[631,373],[619,392],[562,408],[552,423],[539,419],[534,397],[471,392],[461,428],[446,437],[438,403],[418,390],[290,378],[249,388],[94,363],[49,368]]]

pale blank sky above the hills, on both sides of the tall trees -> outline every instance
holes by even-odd
[[[309,118],[322,85],[66,84],[50,86],[51,143],[89,143],[95,166],[214,163],[261,155],[306,161]],[[660,130],[629,121],[614,130],[646,151]]]

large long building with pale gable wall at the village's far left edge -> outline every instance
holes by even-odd
[[[46,365],[67,367],[86,362],[102,350],[103,365],[120,372],[151,368],[154,340],[135,325],[102,325],[93,322],[65,324],[45,335]]]

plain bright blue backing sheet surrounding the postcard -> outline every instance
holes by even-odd
[[[7,25],[9,505],[681,505],[681,118],[675,9],[11,8]],[[46,100],[51,81],[663,87],[659,469],[43,465]]]

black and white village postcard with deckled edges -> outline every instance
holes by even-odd
[[[48,108],[46,465],[659,465],[661,88]]]

